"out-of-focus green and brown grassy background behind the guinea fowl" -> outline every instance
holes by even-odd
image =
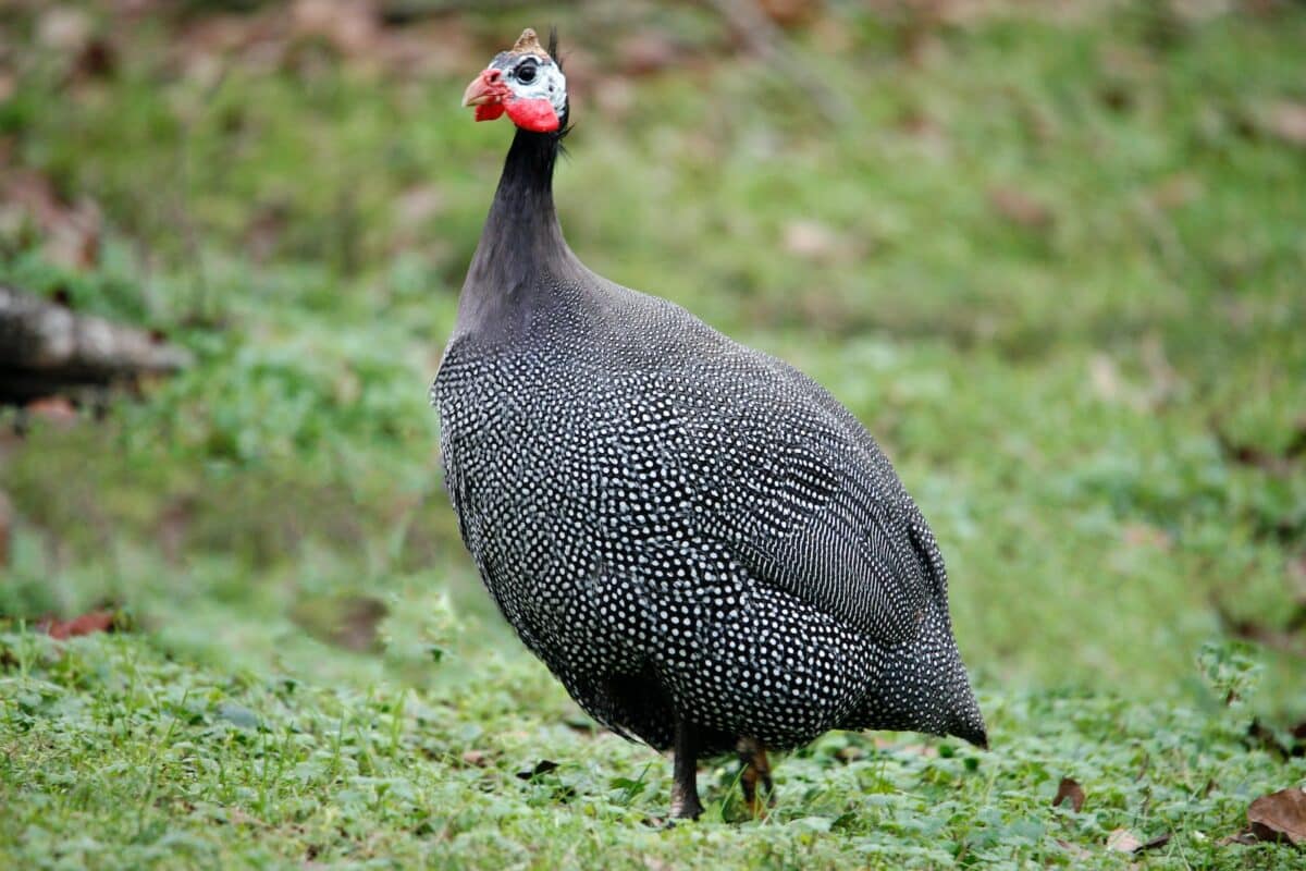
[[[571,245],[853,409],[985,692],[1194,699],[1234,645],[1306,716],[1306,7],[1273,0],[10,0],[0,285],[141,332],[112,377],[0,349],[8,626],[550,686],[426,400],[511,137],[458,99],[550,25]]]

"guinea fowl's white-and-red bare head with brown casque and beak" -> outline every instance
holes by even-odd
[[[526,27],[517,43],[500,51],[462,94],[464,106],[475,106],[478,121],[492,121],[504,112],[517,127],[551,133],[567,116],[567,78],[551,56],[558,51],[556,37],[549,51],[535,31]]]

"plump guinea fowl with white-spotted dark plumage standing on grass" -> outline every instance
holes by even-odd
[[[789,364],[586,269],[552,172],[567,80],[533,30],[468,87],[517,131],[431,388],[486,588],[596,720],[695,772],[831,729],[985,726],[943,556],[857,419]]]

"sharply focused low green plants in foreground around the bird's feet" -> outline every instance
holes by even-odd
[[[1171,703],[989,693],[994,752],[831,734],[781,761],[767,820],[741,821],[722,764],[701,778],[704,820],[663,829],[649,821],[667,767],[549,725],[577,712],[516,652],[478,649],[477,682],[423,689],[196,666],[157,636],[9,633],[0,656],[0,858],[14,867],[1123,868],[1105,849],[1118,828],[1170,833],[1160,867],[1298,855],[1217,842],[1306,765]],[[1060,777],[1083,785],[1080,811],[1051,806]]]

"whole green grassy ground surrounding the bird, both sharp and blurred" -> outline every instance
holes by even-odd
[[[1301,862],[1222,842],[1306,781],[1247,735],[1306,717],[1306,151],[1273,121],[1306,102],[1298,7],[1015,7],[913,63],[902,14],[829,3],[793,34],[849,102],[825,119],[687,4],[436,20],[424,73],[304,35],[205,60],[202,5],[88,7],[108,76],[0,12],[12,165],[106,227],[74,269],[5,217],[0,277],[199,360],[72,428],[3,420],[0,866]],[[508,141],[457,95],[551,20],[572,247],[884,444],[943,542],[991,752],[832,734],[780,763],[767,821],[708,764],[707,817],[666,831],[667,763],[590,729],[494,614],[426,387]],[[641,30],[682,63],[622,72]],[[103,603],[128,631],[27,628]],[[1173,837],[1127,857],[1117,828]]]

